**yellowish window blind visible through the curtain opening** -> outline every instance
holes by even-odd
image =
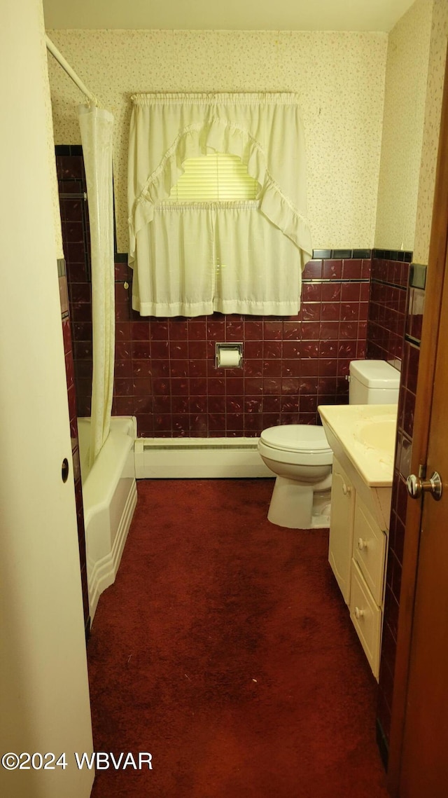
[[[183,162],[185,172],[171,188],[167,202],[219,202],[255,199],[260,184],[241,158],[214,152]]]

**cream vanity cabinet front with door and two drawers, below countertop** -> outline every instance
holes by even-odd
[[[376,679],[383,626],[387,530],[333,460],[328,560]]]

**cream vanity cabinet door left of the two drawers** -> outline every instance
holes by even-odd
[[[352,563],[353,515],[355,489],[344,469],[333,459],[332,509],[328,562],[336,576],[346,604],[350,602],[350,568]]]

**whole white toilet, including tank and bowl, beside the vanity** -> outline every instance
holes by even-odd
[[[350,363],[350,405],[393,405],[399,371],[382,360]],[[263,430],[258,452],[277,479],[268,519],[289,529],[319,529],[330,523],[333,452],[318,425],[285,424]]]

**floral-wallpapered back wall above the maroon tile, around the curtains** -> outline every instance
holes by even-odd
[[[297,92],[313,246],[373,246],[386,34],[50,30],[49,37],[115,115],[118,251],[128,251],[129,96],[145,91]],[[81,93],[52,57],[49,79],[55,143],[79,144]]]

